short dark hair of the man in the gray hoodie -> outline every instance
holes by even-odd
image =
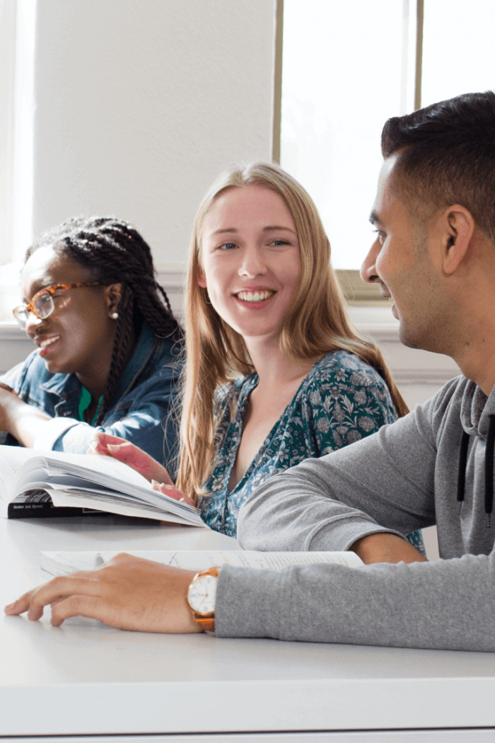
[[[389,119],[381,152],[384,158],[399,155],[396,188],[412,211],[461,204],[495,242],[494,91],[466,93]]]

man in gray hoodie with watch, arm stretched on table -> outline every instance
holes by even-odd
[[[190,571],[119,557],[8,614],[37,619],[65,597],[53,623],[85,614],[155,632],[495,650],[495,93],[389,120],[382,152],[362,275],[392,300],[402,342],[450,355],[463,376],[376,435],[270,479],[238,522],[243,548],[353,550],[367,564],[224,566],[197,579],[202,625]],[[442,559],[430,563],[404,535],[433,524]]]

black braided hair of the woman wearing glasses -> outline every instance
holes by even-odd
[[[94,281],[122,285],[110,369],[95,422],[99,426],[114,397],[133,329],[138,335],[144,320],[158,337],[181,345],[183,329],[155,279],[150,247],[132,224],[115,217],[71,217],[39,236],[26,260],[47,245],[88,268]]]

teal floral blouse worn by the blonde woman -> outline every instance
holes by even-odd
[[[243,502],[274,473],[359,441],[397,417],[388,387],[375,369],[347,351],[325,354],[313,364],[243,478],[229,491],[244,412],[257,384],[258,374],[248,374],[223,386],[216,399],[217,461],[199,505],[206,524],[229,536],[236,536]],[[407,539],[424,551],[420,531]]]

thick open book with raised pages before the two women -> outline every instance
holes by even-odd
[[[0,446],[0,516],[79,516],[95,510],[204,526],[197,508],[152,490],[117,459]]]

